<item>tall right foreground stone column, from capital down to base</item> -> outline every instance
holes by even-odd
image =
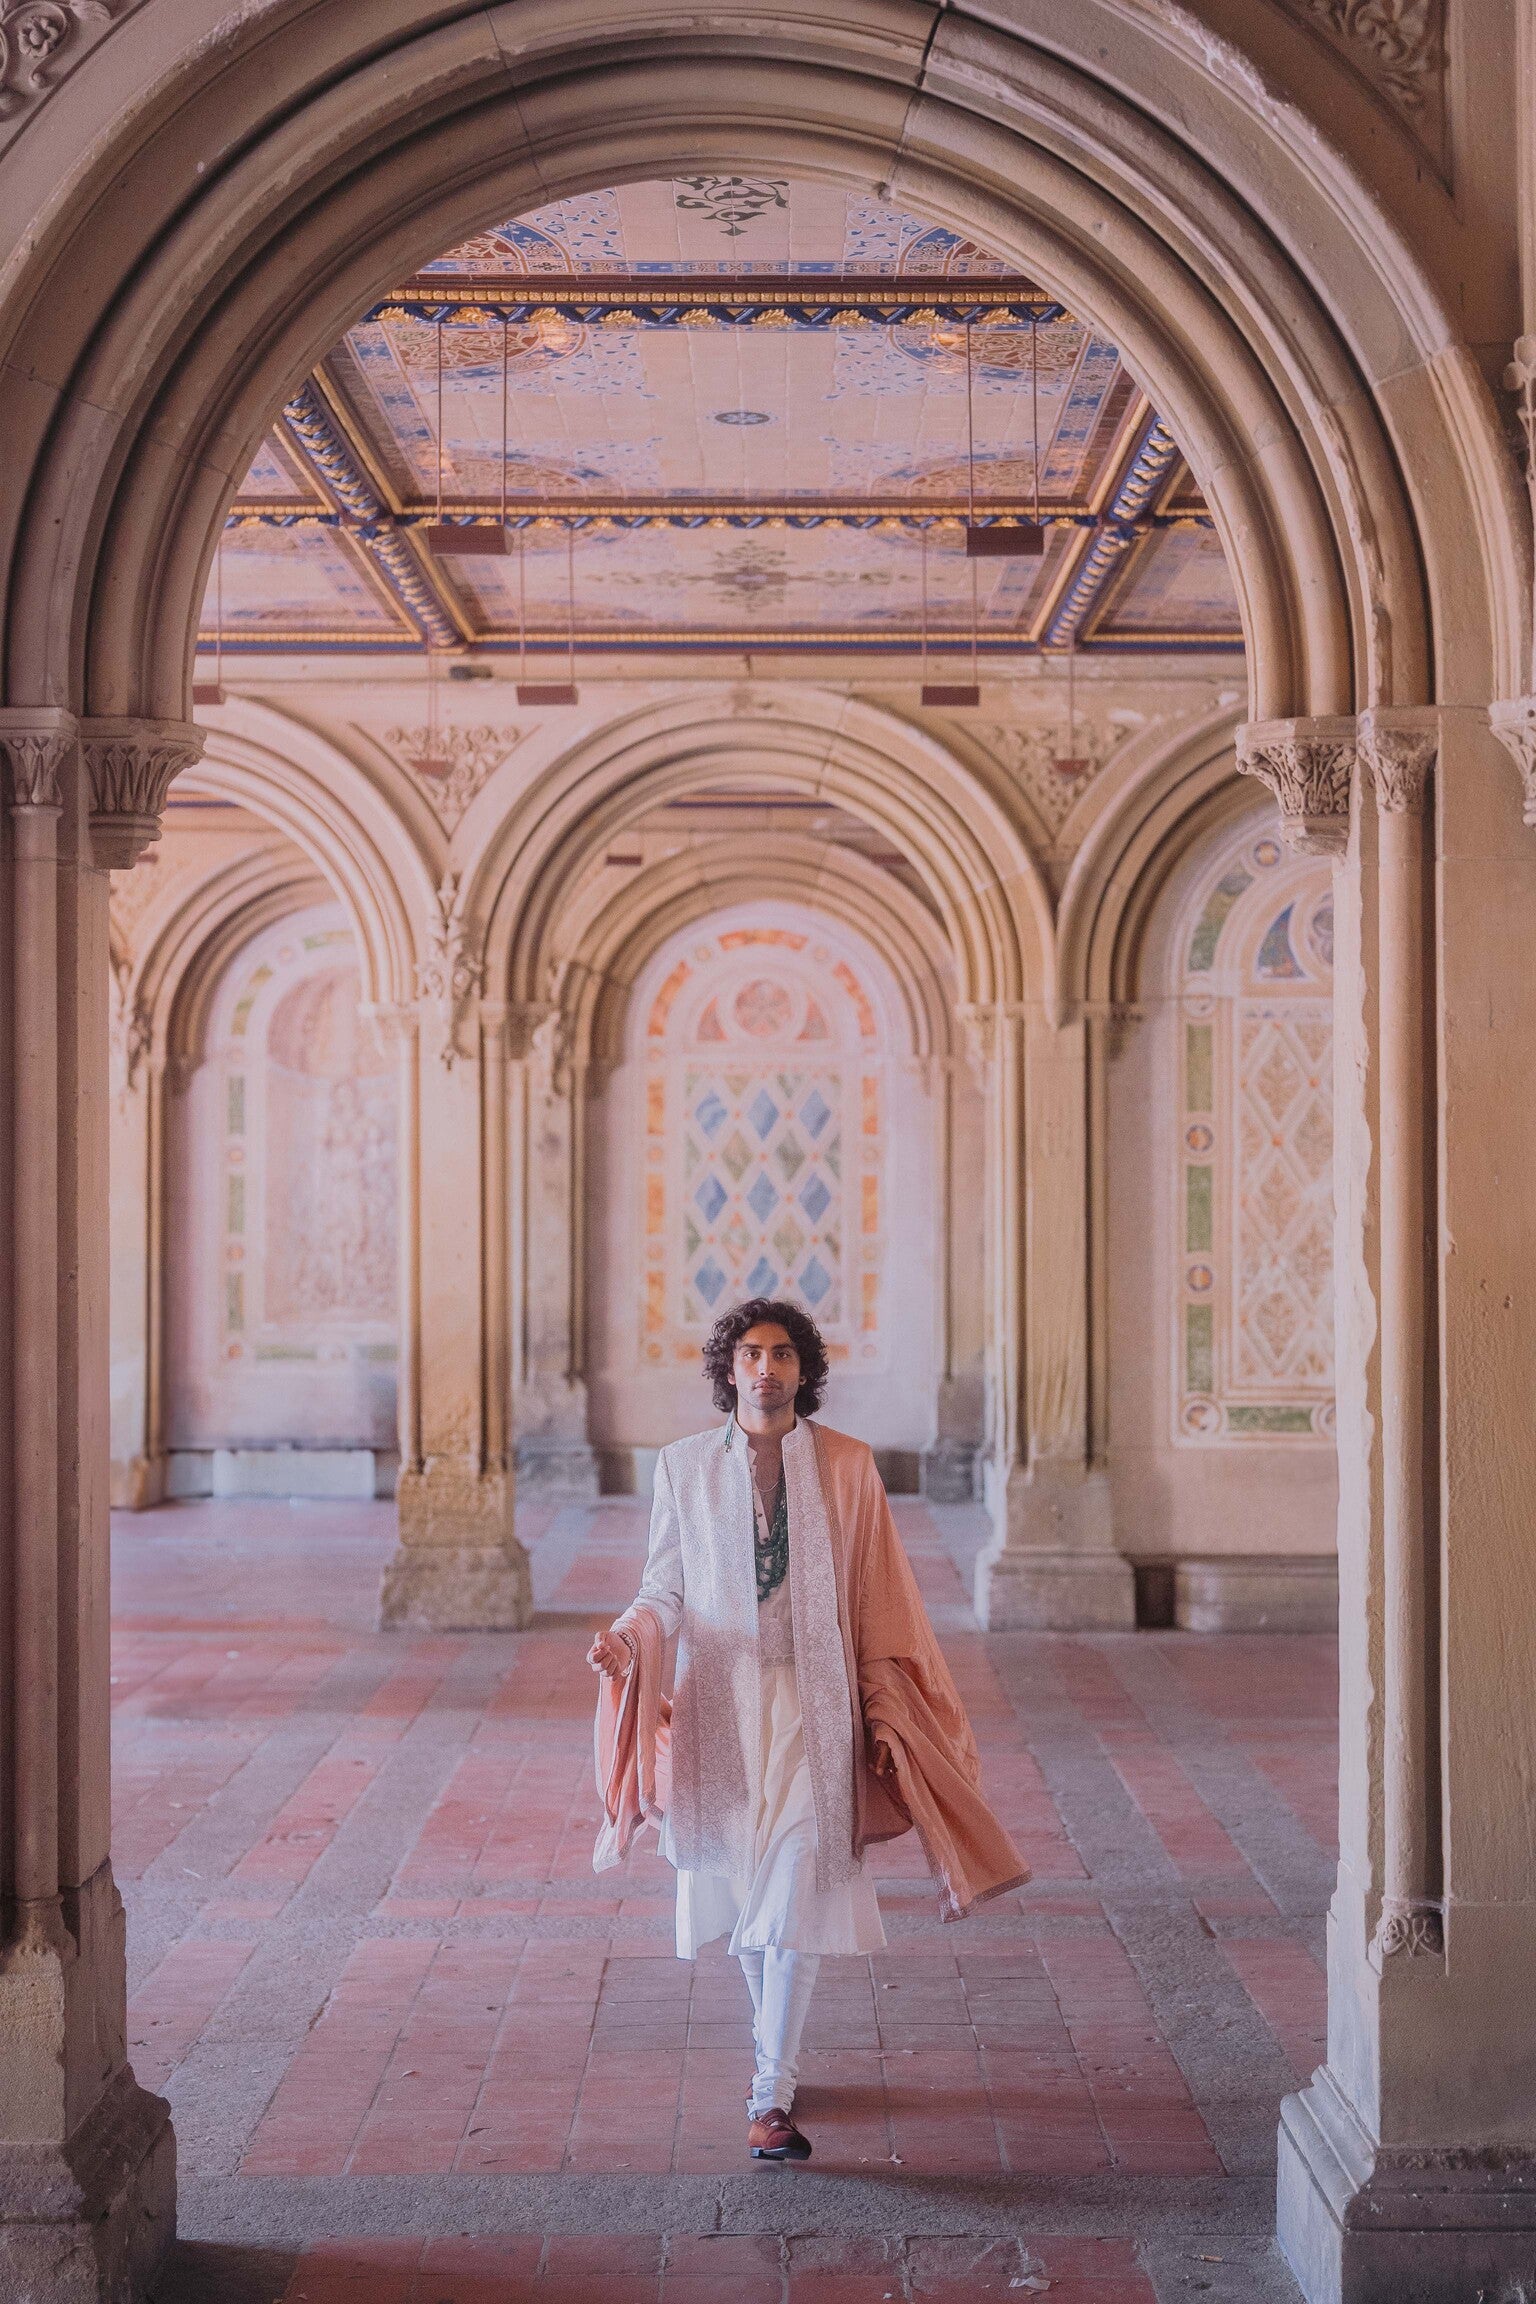
[[[1368,712],[1336,873],[1340,1864],[1280,2120],[1308,2304],[1536,2265],[1536,843],[1485,712]]]

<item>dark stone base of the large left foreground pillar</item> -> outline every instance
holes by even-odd
[[[173,2239],[170,2106],[127,2067],[67,2145],[0,2143],[7,2304],[138,2304]]]

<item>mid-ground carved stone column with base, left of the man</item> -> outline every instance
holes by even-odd
[[[382,1624],[518,1631],[532,1615],[514,1532],[504,1336],[491,1274],[504,1242],[497,1159],[502,1064],[486,1060],[481,961],[458,880],[444,880],[419,968],[419,1028],[398,1032],[403,1355],[401,1541],[380,1590]]]

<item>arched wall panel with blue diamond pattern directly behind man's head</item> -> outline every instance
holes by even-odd
[[[847,954],[790,926],[689,942],[645,1018],[640,1352],[695,1362],[746,1295],[884,1350],[887,1051]]]

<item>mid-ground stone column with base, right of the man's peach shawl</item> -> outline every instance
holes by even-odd
[[[990,1011],[986,1064],[997,1428],[976,1613],[988,1631],[1128,1629],[1135,1578],[1087,1431],[1087,1030]]]

